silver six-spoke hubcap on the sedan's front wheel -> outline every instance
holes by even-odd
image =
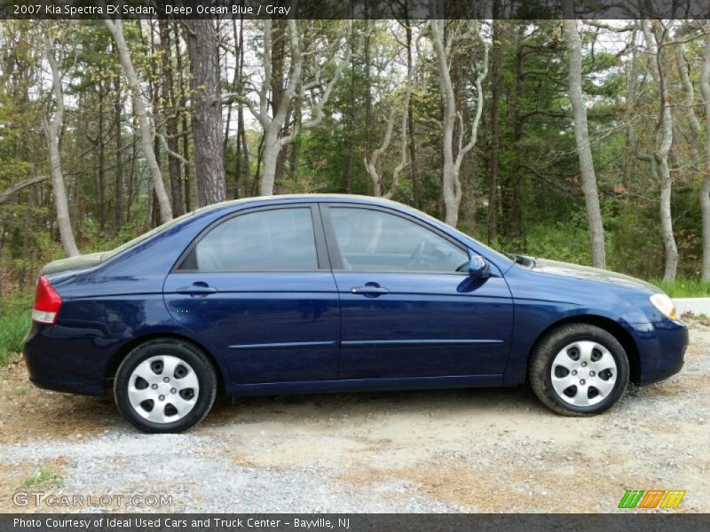
[[[617,366],[609,349],[596,341],[582,340],[565,346],[552,361],[552,387],[565,403],[592,406],[611,394]]]

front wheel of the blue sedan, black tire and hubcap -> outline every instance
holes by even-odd
[[[628,384],[628,359],[610,332],[588,324],[562,325],[533,348],[528,380],[540,402],[564,416],[608,411]]]

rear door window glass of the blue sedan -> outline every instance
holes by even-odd
[[[201,271],[317,270],[310,207],[237,215],[209,231],[185,267]]]

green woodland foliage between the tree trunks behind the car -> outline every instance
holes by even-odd
[[[567,94],[569,52],[564,32],[559,20],[546,17],[531,20],[534,12],[517,12],[517,15],[512,20],[499,20],[500,32],[496,34],[501,51],[496,85],[500,97],[500,140],[493,245],[510,252],[588,264],[591,262],[588,228]],[[441,218],[444,214],[442,137],[436,124],[441,121],[443,106],[437,65],[426,21],[409,22],[414,36],[411,43],[414,135],[407,130],[407,137],[413,142],[415,157],[414,164],[410,161],[410,166],[401,172],[393,199]],[[283,148],[285,171],[277,183],[277,192],[372,193],[364,160],[382,143],[390,108],[396,106],[399,116],[404,101],[408,57],[404,24],[404,20],[353,20],[350,29],[343,20],[298,21],[306,52],[302,82],[312,82],[316,72],[320,74],[321,86],[314,87],[312,92],[316,100],[334,71],[335,61],[326,58],[334,51],[341,54],[344,47],[351,48],[352,55],[318,126],[300,127],[299,124],[312,118],[312,103],[310,98],[294,99],[282,133],[285,136],[295,132],[296,143]],[[456,35],[458,31],[467,35],[468,24],[466,20],[449,20],[448,35]],[[167,117],[185,117],[185,125],[180,121],[178,126],[178,151],[190,159],[193,140],[188,141],[187,148],[182,145],[184,137],[191,138],[191,107],[185,99],[191,82],[185,32],[176,21],[169,21],[169,25],[173,44],[176,35],[182,35],[177,36],[173,50],[160,45],[156,27],[146,25],[145,21],[126,20],[123,31],[138,72],[140,90],[151,113],[148,119],[157,132],[165,135]],[[484,26],[485,38],[489,38],[487,23]],[[285,27],[285,23],[274,23],[273,36],[274,45],[285,46],[284,73],[288,74],[289,44],[277,35]],[[658,123],[658,86],[648,74],[651,54],[622,43],[630,34],[610,35],[585,24],[580,27],[586,28],[582,35],[582,83],[606,231],[607,264],[611,270],[659,278],[664,268],[664,249],[659,231],[658,184],[651,176],[649,163],[636,157],[637,153],[653,153]],[[232,82],[235,66],[232,28],[225,27],[220,34],[223,93],[241,91],[241,97],[254,100],[254,90],[258,90],[263,80],[262,26],[260,22],[245,20],[243,28],[246,70],[240,87]],[[55,43],[67,96],[61,157],[71,222],[83,253],[104,251],[150,229],[156,216],[145,156],[135,136],[136,123],[125,75],[102,21],[48,21],[43,26],[23,20],[0,23],[0,50],[7,51],[0,53],[0,192],[49,170],[41,127],[53,109],[43,49],[45,29]],[[671,29],[674,35],[680,27]],[[609,45],[613,40],[617,42]],[[682,44],[681,55],[696,87],[703,51],[700,39]],[[455,41],[452,48],[450,73],[466,133],[470,131],[471,114],[479,97],[474,83],[482,66],[481,52],[476,35]],[[627,90],[634,53],[638,87],[633,113],[628,116]],[[694,157],[689,127],[691,107],[683,103],[685,97],[673,55],[668,54],[670,62],[664,72],[670,96],[677,104],[673,156],[669,161],[674,179],[672,210],[680,254],[679,276],[698,278],[702,257],[698,187],[702,175],[694,174],[699,165],[698,160],[691,159]],[[171,78],[166,78],[162,66],[166,57],[172,66]],[[493,60],[493,53],[490,59]],[[174,101],[162,98],[169,79],[174,85]],[[464,160],[460,175],[463,194],[460,228],[482,241],[488,237],[485,199],[491,183],[492,93],[491,69],[484,82],[485,105],[477,145]],[[697,90],[696,104],[699,98]],[[231,101],[234,121],[241,98]],[[698,118],[702,118],[697,105],[695,110]],[[241,177],[242,196],[258,193],[255,176],[260,171],[262,139],[261,126],[246,108],[244,119],[250,168],[248,178]],[[234,122],[232,133],[233,126]],[[634,146],[627,143],[628,127],[634,132]],[[460,134],[461,127],[457,125],[454,136]],[[399,160],[401,136],[397,119],[390,146],[378,164],[385,189]],[[234,192],[236,162],[233,141],[234,137],[227,139],[225,153],[230,197]],[[168,154],[159,141],[155,149],[165,182],[169,184]],[[199,169],[187,168],[192,183],[188,188],[192,192],[191,206],[195,207],[194,179]],[[415,180],[412,168],[416,169]],[[119,169],[121,174],[117,173]],[[122,193],[116,195],[120,179]],[[119,201],[125,208],[120,216],[115,216]],[[23,189],[0,208],[0,270],[10,271],[10,275],[3,277],[5,293],[30,285],[44,262],[63,256],[55,216],[49,182]],[[2,319],[11,319],[7,308],[3,316]],[[4,328],[23,326],[20,322]],[[17,336],[12,334],[13,338]],[[17,340],[4,343],[17,346]],[[5,348],[5,353],[11,350]]]

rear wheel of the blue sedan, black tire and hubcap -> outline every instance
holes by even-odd
[[[122,416],[145,433],[179,433],[208,414],[217,395],[217,374],[192,344],[148,340],[118,366],[114,398]]]

